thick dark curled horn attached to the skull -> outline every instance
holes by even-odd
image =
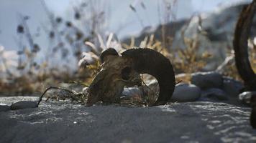
[[[152,49],[128,49],[122,53],[123,57],[132,58],[132,66],[140,74],[150,74],[160,87],[159,97],[153,106],[165,104],[173,95],[175,75],[170,61]]]

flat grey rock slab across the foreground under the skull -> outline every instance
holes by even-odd
[[[33,97],[1,97],[0,104]],[[84,107],[42,102],[0,112],[0,142],[256,142],[250,108],[220,102]]]

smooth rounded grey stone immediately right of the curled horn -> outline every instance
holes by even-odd
[[[171,101],[194,102],[201,97],[201,89],[193,84],[177,84]]]

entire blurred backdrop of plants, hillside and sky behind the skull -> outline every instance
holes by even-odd
[[[91,83],[101,51],[160,51],[175,74],[219,71],[239,80],[234,26],[251,0],[0,0],[0,96]],[[256,19],[250,50],[256,45]],[[256,69],[255,52],[250,54]]]

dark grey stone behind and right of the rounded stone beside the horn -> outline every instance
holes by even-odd
[[[191,74],[191,84],[195,84],[201,89],[221,88],[222,82],[222,75],[214,71]]]

